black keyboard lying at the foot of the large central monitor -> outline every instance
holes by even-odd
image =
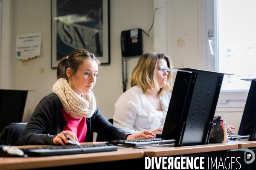
[[[149,146],[156,144],[172,144],[175,143],[175,140],[164,140],[160,138],[153,139],[133,139],[133,140],[118,140],[118,141],[108,141],[106,144],[113,145],[128,145],[128,146]]]

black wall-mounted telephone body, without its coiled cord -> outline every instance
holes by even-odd
[[[138,56],[143,54],[142,29],[130,29],[121,32],[122,56]]]

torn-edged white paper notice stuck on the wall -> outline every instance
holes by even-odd
[[[42,33],[17,35],[16,58],[28,60],[40,56]]]

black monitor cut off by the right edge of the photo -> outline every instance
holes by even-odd
[[[249,93],[244,106],[238,134],[250,135],[249,141],[256,140],[256,79],[242,79],[251,81]]]

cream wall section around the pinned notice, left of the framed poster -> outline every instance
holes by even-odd
[[[39,101],[52,92],[56,70],[51,69],[51,1],[13,0],[12,89],[28,93],[23,121],[27,122]],[[19,34],[42,32],[41,56],[28,61],[15,59]]]

